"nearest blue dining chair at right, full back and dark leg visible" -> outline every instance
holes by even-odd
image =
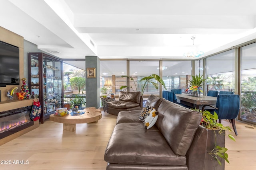
[[[205,106],[210,106],[215,109],[214,111],[218,115],[219,123],[221,123],[222,119],[228,119],[232,123],[235,134],[238,135],[236,131],[235,118],[237,117],[240,109],[239,95],[220,94],[217,96],[216,107],[211,105],[204,105],[202,107],[202,111],[204,111]]]

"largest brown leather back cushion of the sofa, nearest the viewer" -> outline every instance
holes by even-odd
[[[202,113],[163,100],[156,126],[175,154],[185,156],[202,119]]]

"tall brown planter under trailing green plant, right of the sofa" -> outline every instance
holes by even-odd
[[[214,149],[215,146],[215,141],[216,145],[220,147],[225,147],[225,132],[223,132],[221,135],[218,133],[219,129],[212,130],[212,129],[207,129],[208,130],[208,138],[207,138],[207,145],[206,145],[206,157],[205,157],[205,164],[204,164],[204,169],[205,170],[224,170],[225,169],[225,160],[223,158],[219,158],[221,165],[218,164],[218,161],[213,158],[209,152]]]

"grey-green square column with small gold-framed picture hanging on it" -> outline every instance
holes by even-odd
[[[100,59],[97,56],[85,57],[86,67],[86,107],[100,107]],[[87,78],[87,68],[95,68],[96,78]]]

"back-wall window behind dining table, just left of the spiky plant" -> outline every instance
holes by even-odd
[[[191,61],[163,61],[163,80],[166,90],[188,87],[187,80],[191,76]]]

